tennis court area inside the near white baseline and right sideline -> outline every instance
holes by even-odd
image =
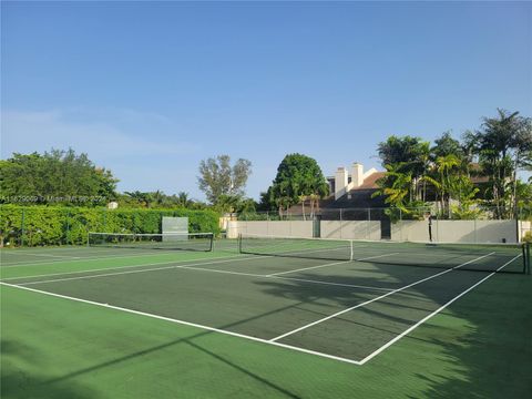
[[[98,244],[2,250],[2,284],[356,366],[528,262],[519,245],[256,236],[214,250],[205,239]]]

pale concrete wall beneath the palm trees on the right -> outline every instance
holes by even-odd
[[[426,221],[391,224],[392,241],[429,241]],[[432,241],[440,243],[516,243],[515,221],[433,221]]]

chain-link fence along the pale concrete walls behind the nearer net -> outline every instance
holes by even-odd
[[[239,233],[348,239],[415,242],[515,243],[528,239],[532,213],[519,219],[498,218],[500,209],[469,208],[441,213],[434,207],[323,208],[300,212],[257,212],[236,215],[228,236]]]

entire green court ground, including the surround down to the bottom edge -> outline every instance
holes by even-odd
[[[532,395],[519,248],[254,245],[3,249],[2,398]]]

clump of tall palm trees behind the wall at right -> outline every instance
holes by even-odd
[[[390,136],[380,143],[379,156],[388,172],[378,182],[380,190],[376,195],[386,195],[392,207],[405,209],[424,203],[429,185],[442,216],[471,217],[480,212],[474,208],[479,188],[470,177],[477,174],[489,177],[481,197],[484,205],[494,206],[493,215],[516,215],[522,195],[526,194],[518,171],[532,168],[530,117],[498,110],[495,117],[483,119],[479,131],[467,131],[462,142],[446,132],[431,149],[427,144],[411,136]],[[406,186],[408,183],[410,187]]]

